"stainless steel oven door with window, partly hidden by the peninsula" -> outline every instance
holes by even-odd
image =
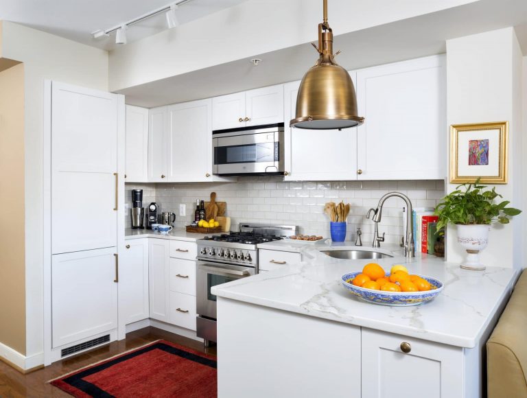
[[[216,319],[216,296],[211,294],[213,286],[250,277],[254,274],[256,274],[256,270],[253,267],[198,260],[198,275],[196,277],[196,312],[198,315]]]

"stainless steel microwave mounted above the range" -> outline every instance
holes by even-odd
[[[213,131],[213,174],[283,174],[283,137],[283,123]]]

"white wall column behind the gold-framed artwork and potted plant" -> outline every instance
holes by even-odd
[[[521,62],[513,27],[447,40],[448,124],[509,121],[508,184],[496,185],[496,191],[514,207],[522,207]],[[447,191],[455,187],[448,185]],[[519,216],[509,225],[491,227],[484,264],[522,266],[521,225]],[[455,227],[449,227],[447,261],[465,257],[456,239]]]

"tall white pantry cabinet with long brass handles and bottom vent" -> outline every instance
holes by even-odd
[[[117,339],[124,97],[47,82],[45,364]]]

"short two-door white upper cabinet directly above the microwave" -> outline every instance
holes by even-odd
[[[283,122],[283,84],[212,99],[212,130]]]

